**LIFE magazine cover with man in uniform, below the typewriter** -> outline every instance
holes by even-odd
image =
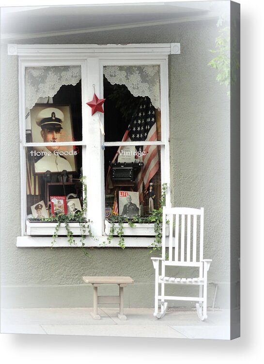
[[[133,217],[140,214],[140,198],[138,192],[119,191],[119,214]]]

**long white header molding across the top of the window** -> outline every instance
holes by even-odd
[[[154,44],[8,44],[8,55],[45,56],[45,55],[114,55],[118,53],[168,55],[180,54],[180,43]]]

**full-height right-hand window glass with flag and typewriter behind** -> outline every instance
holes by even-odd
[[[104,98],[106,216],[113,200],[124,215],[122,200],[131,192],[137,209],[127,216],[148,215],[161,197],[159,65],[104,66]]]

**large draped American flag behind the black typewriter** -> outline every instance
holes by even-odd
[[[128,125],[122,142],[129,141],[147,141],[154,142],[157,140],[156,132],[156,119],[155,119],[155,108],[152,105],[148,97],[143,97],[140,99],[139,106],[132,116],[131,122]],[[143,199],[142,189],[143,183],[144,187],[148,188],[150,180],[154,177],[155,173],[159,168],[158,161],[158,148],[157,146],[141,146],[136,147],[138,152],[145,152],[146,155],[142,155],[141,159],[144,163],[143,168],[136,179],[136,191],[140,194],[140,202]],[[122,147],[119,147],[119,150]],[[143,153],[144,154],[144,153]],[[114,160],[118,156],[115,155]],[[110,173],[108,173],[109,177]],[[107,178],[107,188],[111,188],[111,183],[109,178]]]

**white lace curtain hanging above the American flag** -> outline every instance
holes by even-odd
[[[159,66],[104,66],[111,84],[124,84],[132,95],[148,96],[160,110]]]

